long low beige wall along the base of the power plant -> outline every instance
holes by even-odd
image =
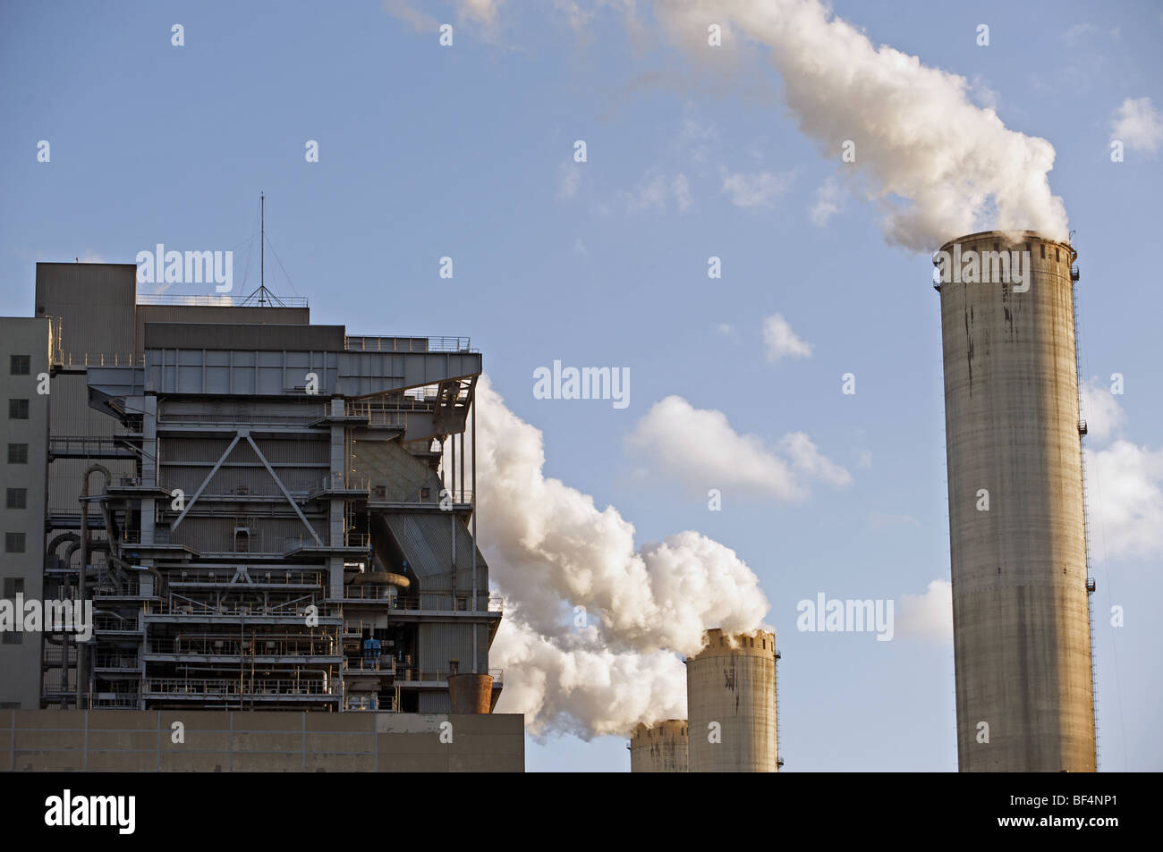
[[[173,723],[184,725],[173,742]],[[441,742],[443,723],[451,742]],[[445,739],[447,739],[445,735]],[[2,710],[0,771],[525,772],[519,714]]]

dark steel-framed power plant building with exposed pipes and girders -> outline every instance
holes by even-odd
[[[138,296],[133,264],[37,264],[0,324],[3,596],[94,628],[5,632],[0,708],[490,713],[468,338]]]

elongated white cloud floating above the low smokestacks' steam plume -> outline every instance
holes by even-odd
[[[635,424],[627,443],[643,460],[652,463],[657,473],[704,492],[729,488],[794,501],[807,495],[801,478],[833,485],[850,479],[802,432],[779,442],[780,456],[758,436],[736,432],[722,411],[694,408],[682,396],[656,402]]]

